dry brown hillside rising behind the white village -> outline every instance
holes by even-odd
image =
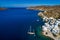
[[[55,6],[36,6],[36,7],[29,7],[28,9],[33,10],[43,10],[42,12],[47,17],[53,17],[56,19],[60,19],[60,5]],[[41,14],[39,16],[42,16]]]

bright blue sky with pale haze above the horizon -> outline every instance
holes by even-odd
[[[0,0],[0,7],[28,7],[59,4],[60,0]]]

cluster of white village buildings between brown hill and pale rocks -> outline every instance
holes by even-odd
[[[42,26],[42,28],[43,28],[44,31],[47,31],[47,30],[51,31],[52,30],[51,32],[53,34],[60,33],[60,29],[58,27],[58,24],[60,24],[60,19],[56,20],[56,19],[54,19],[52,17],[50,17],[50,18],[44,17],[43,20],[44,21],[47,21],[48,20],[48,22],[46,22]]]

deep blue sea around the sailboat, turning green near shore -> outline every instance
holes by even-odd
[[[40,35],[44,22],[38,16],[39,12],[26,8],[0,10],[0,40],[45,40]],[[35,30],[35,36],[27,34],[30,26]]]

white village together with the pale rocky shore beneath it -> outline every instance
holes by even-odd
[[[54,19],[53,17],[47,18],[44,16],[45,21],[42,26],[43,35],[49,36],[54,40],[60,40],[60,19]]]

